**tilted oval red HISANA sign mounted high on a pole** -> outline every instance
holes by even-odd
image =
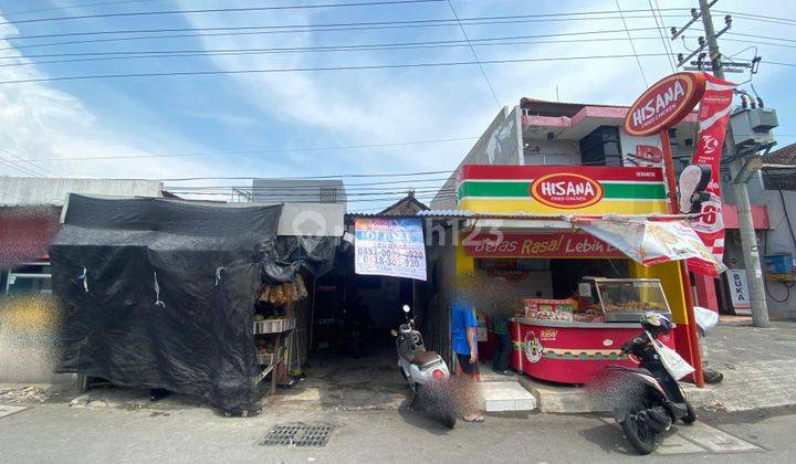
[[[648,136],[674,126],[696,106],[704,88],[702,73],[677,73],[663,77],[628,109],[625,130],[631,136]]]

